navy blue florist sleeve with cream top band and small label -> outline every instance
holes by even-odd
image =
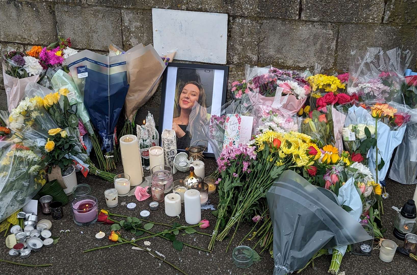
[[[83,50],[65,61],[83,97],[90,120],[98,130],[101,149],[112,152],[113,133],[129,87],[126,55],[108,57]]]

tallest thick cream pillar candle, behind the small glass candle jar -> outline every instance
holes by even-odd
[[[120,153],[122,155],[123,170],[131,177],[131,186],[142,183],[142,162],[136,135],[124,135],[120,138]]]

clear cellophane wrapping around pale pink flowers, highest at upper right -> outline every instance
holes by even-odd
[[[392,66],[397,62],[396,52],[397,49],[384,52],[379,47],[367,48],[363,55],[352,51],[347,94],[364,102],[398,100],[402,77]]]

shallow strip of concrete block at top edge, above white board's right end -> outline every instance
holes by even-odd
[[[260,18],[298,19],[299,0],[189,0],[187,10]]]

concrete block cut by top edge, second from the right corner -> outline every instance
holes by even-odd
[[[301,19],[327,22],[381,23],[384,0],[302,0]]]

